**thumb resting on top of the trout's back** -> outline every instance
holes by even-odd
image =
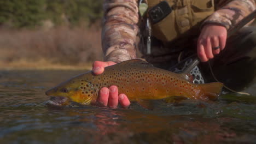
[[[92,64],[92,71],[94,74],[99,75],[102,74],[104,71],[104,67],[108,67],[110,65],[116,64],[115,62],[101,62],[101,61],[95,61],[94,64]]]

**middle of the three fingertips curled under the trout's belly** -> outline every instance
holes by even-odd
[[[117,108],[117,106],[118,106],[118,88],[117,88],[117,86],[109,87],[108,106],[113,109]]]

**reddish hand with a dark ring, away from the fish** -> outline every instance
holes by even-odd
[[[197,40],[197,55],[202,62],[207,62],[225,48],[227,30],[223,26],[207,24],[203,26]]]

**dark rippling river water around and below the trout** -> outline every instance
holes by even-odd
[[[79,70],[1,70],[0,143],[256,143],[256,85],[251,96],[155,101],[154,110],[46,106],[47,89]]]

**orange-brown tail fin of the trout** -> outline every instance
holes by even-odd
[[[203,91],[204,97],[207,97],[210,100],[216,100],[220,93],[222,92],[223,83],[220,82],[211,82],[200,84],[200,87]]]

